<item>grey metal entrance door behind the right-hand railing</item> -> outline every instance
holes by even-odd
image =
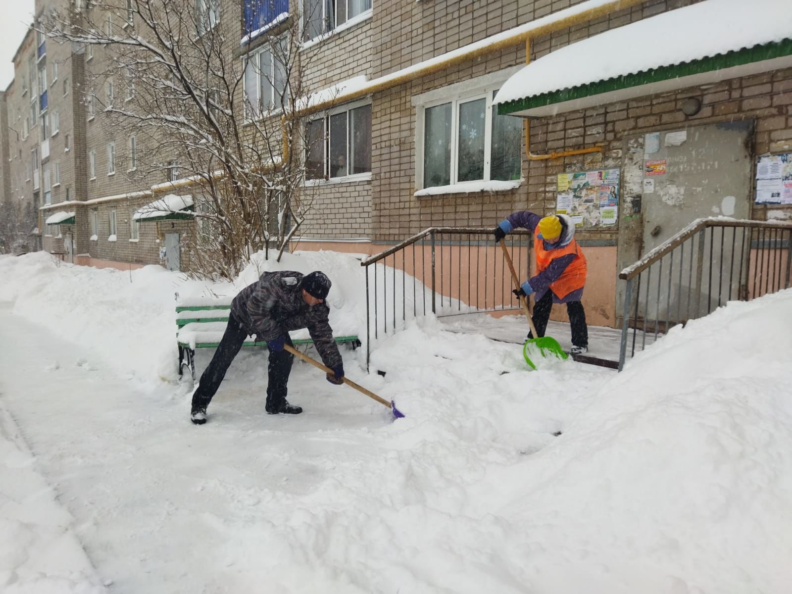
[[[629,220],[623,221],[626,224],[619,229],[619,269],[638,261],[695,219],[719,215],[748,218],[752,128],[752,120],[743,120],[626,139],[625,201],[630,208],[623,212]],[[721,239],[716,238],[717,247]],[[730,240],[731,235],[727,233],[725,241]],[[691,259],[689,246],[687,243],[683,259],[676,255],[671,263],[670,257],[665,258],[662,278],[659,265],[652,268],[653,278],[647,278],[644,273],[638,299],[639,318],[657,317],[669,322],[687,318],[686,309],[681,306],[683,301],[689,302],[691,296],[694,303],[699,298],[691,293],[695,293],[695,267],[701,254],[696,244],[697,253]],[[734,258],[740,257],[738,249]],[[707,267],[711,263],[714,270],[729,269],[731,258],[728,249],[725,253],[722,249],[712,249],[710,254],[710,241],[706,241],[703,262]],[[672,275],[668,274],[670,270],[673,270]],[[737,276],[713,281],[721,282],[722,287],[702,286],[701,303],[706,303],[710,293],[718,295],[719,289],[723,295],[738,295],[740,279]],[[621,314],[624,283],[619,284],[620,303],[617,306]],[[657,295],[661,295],[660,299]],[[706,308],[702,313],[706,313]]]

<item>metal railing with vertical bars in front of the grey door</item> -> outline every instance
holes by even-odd
[[[792,223],[696,219],[625,268],[619,371],[668,329],[790,287]]]

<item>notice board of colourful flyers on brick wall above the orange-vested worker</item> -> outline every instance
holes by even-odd
[[[611,227],[619,220],[619,169],[558,173],[555,211],[575,227]]]

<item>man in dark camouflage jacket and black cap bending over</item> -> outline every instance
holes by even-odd
[[[294,346],[289,330],[307,328],[322,362],[333,370],[333,374],[327,374],[327,381],[343,383],[344,364],[327,319],[329,307],[325,299],[330,285],[323,272],[303,276],[300,272],[282,270],[265,272],[257,282],[239,291],[231,302],[223,339],[192,394],[192,422],[196,425],[206,422],[207,406],[248,335],[256,335],[257,341],[266,341],[269,349],[266,403],[269,414],[303,412],[286,400],[294,360],[294,355],[284,350],[284,345]]]

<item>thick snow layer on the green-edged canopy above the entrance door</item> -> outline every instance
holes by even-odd
[[[509,78],[495,103],[786,39],[790,0],[704,0],[553,51]]]

